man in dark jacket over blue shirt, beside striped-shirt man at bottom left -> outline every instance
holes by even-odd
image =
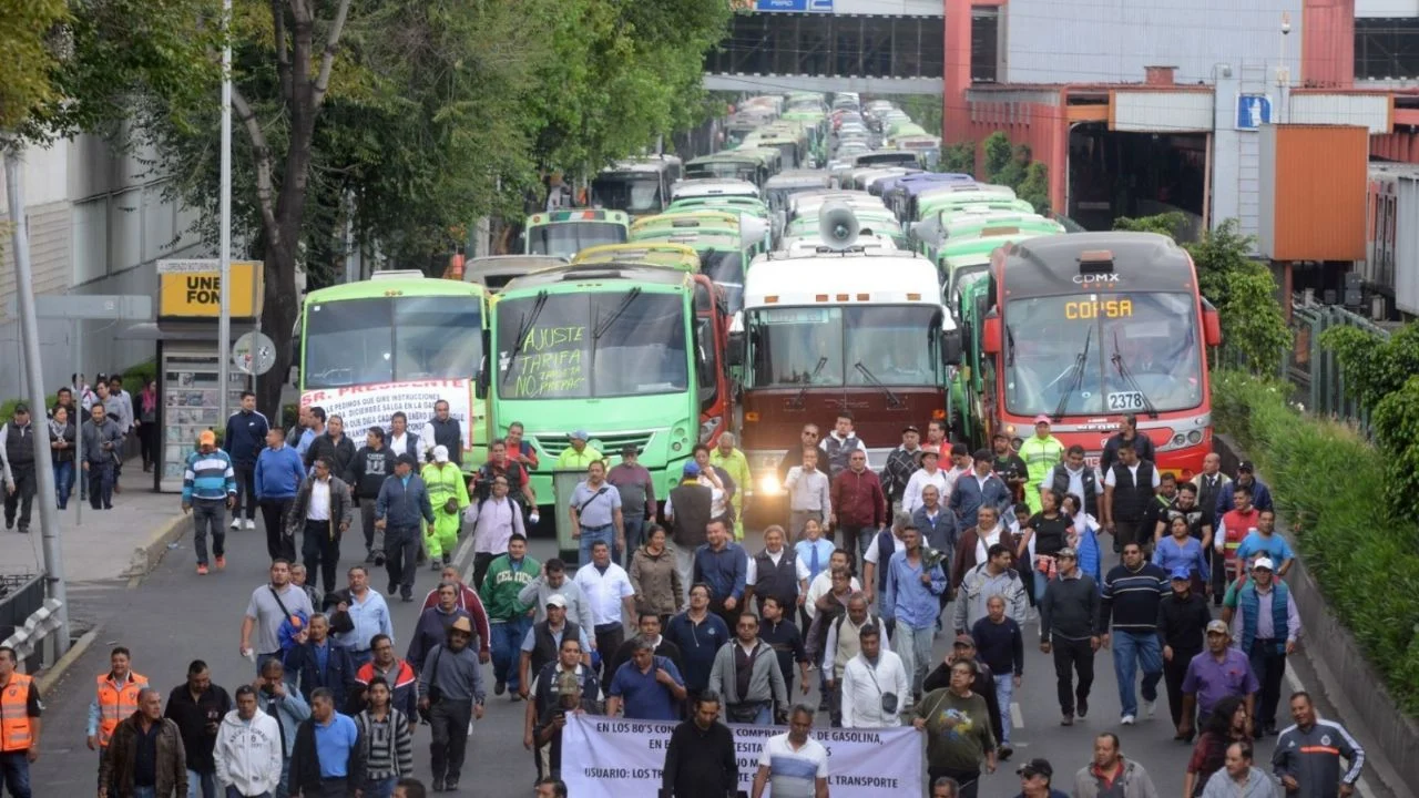
[[[359,728],[335,711],[335,699],[321,687],[311,694],[311,718],[301,723],[291,753],[292,795],[355,795],[365,772]]]

